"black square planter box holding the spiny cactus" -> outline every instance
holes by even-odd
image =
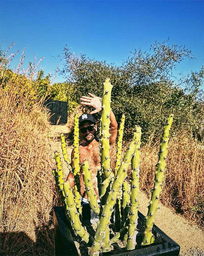
[[[90,212],[91,211],[86,211]],[[87,219],[86,219],[87,221]],[[138,212],[138,225],[144,226],[145,217]],[[78,252],[69,229],[69,224],[65,216],[64,207],[54,207],[54,223],[55,223],[55,255],[60,256],[78,256]],[[155,236],[155,243],[140,247],[132,251],[125,251],[115,254],[113,251],[102,253],[102,255],[115,256],[156,256],[156,255],[179,255],[180,246],[167,236],[156,225],[153,225],[152,232]],[[139,243],[138,243],[139,244]]]

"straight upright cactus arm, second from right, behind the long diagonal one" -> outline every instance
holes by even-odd
[[[141,133],[140,133],[141,134]],[[135,154],[131,160],[132,179],[130,190],[129,227],[127,250],[134,250],[136,246],[137,222],[138,222],[138,195],[139,195],[139,163],[140,163],[140,142],[137,145]]]

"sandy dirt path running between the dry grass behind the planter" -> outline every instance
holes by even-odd
[[[68,132],[69,129],[66,125],[52,126],[51,147],[53,151],[61,152],[60,134],[64,133],[66,136]],[[72,147],[68,147],[67,151],[70,156]],[[139,211],[146,216],[150,199],[141,192],[139,201]],[[161,203],[159,203],[159,207],[161,209],[156,213],[155,224],[180,245],[180,255],[204,256],[204,233],[202,230]]]

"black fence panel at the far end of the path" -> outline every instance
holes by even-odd
[[[58,124],[67,123],[68,100],[59,101],[59,100],[48,99],[44,103],[44,106],[50,110],[51,124],[56,125],[58,120],[59,120]]]

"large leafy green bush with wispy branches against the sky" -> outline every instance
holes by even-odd
[[[126,115],[125,137],[129,138],[133,127],[142,127],[143,141],[151,134],[156,137],[170,113],[175,114],[172,131],[189,131],[189,135],[203,138],[204,101],[200,85],[204,68],[182,77],[179,84],[172,78],[172,70],[185,58],[194,59],[185,47],[167,43],[155,43],[150,53],[135,50],[121,66],[76,56],[67,47],[64,49],[66,63],[62,74],[73,84],[73,100],[79,103],[82,95],[91,92],[102,96],[103,82],[110,77],[112,109],[119,122]],[[181,88],[182,86],[182,88]]]

